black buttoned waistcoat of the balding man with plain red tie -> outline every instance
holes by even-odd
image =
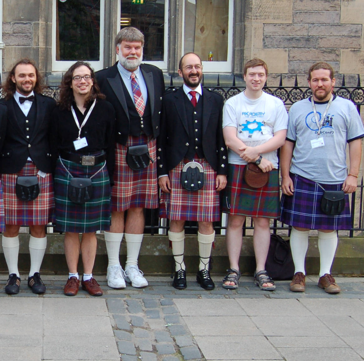
[[[186,158],[193,159],[195,153],[199,158],[204,158],[202,150],[202,96],[200,95],[194,107],[186,95],[185,107],[189,134],[189,147]]]

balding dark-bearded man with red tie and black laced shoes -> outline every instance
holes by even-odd
[[[183,85],[166,93],[162,102],[161,133],[157,138],[160,216],[170,220],[168,232],[175,261],[172,286],[185,289],[183,262],[185,221],[198,222],[197,282],[213,290],[210,276],[213,222],[220,219],[219,191],[226,186],[227,150],[222,135],[223,98],[201,87],[202,63],[187,53],[179,61]]]

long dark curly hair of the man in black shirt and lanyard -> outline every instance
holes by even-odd
[[[96,82],[94,69],[91,68],[89,63],[76,62],[74,63],[63,75],[62,82],[60,85],[60,93],[58,105],[61,109],[71,110],[72,102],[74,101],[72,85],[73,72],[80,66],[86,66],[90,70],[91,78],[94,81],[94,85],[91,88],[90,96],[86,99],[84,106],[87,108],[95,98],[105,99],[105,95],[101,93],[100,88]]]

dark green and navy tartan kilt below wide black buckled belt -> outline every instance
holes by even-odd
[[[105,161],[92,165],[80,165],[62,159],[64,166],[75,178],[90,178]],[[89,233],[108,231],[111,224],[110,179],[106,165],[91,178],[92,199],[83,204],[68,199],[68,185],[71,176],[62,166],[60,158],[56,163],[54,193],[56,201],[56,230],[59,232]]]

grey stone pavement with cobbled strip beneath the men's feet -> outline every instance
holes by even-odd
[[[289,281],[261,291],[242,277],[235,291],[205,291],[194,276],[175,290],[166,276],[145,289],[107,287],[91,297],[63,295],[67,276],[42,276],[47,293],[34,295],[22,275],[18,295],[0,276],[0,360],[364,360],[364,278],[336,277],[342,292],[326,294],[317,277],[306,292]]]

